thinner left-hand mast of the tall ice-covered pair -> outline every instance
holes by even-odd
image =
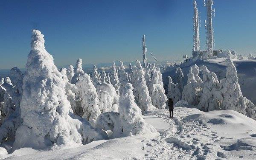
[[[196,0],[193,0],[193,6],[194,6],[194,48],[193,51],[199,51],[200,50],[200,38],[199,38],[199,16],[198,16],[198,8]]]

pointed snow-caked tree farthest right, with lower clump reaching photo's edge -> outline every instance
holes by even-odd
[[[221,93],[224,95],[223,109],[232,109],[250,118],[255,118],[256,107],[250,100],[243,97],[233,61],[230,58],[227,58],[226,61],[226,78],[220,81]]]

